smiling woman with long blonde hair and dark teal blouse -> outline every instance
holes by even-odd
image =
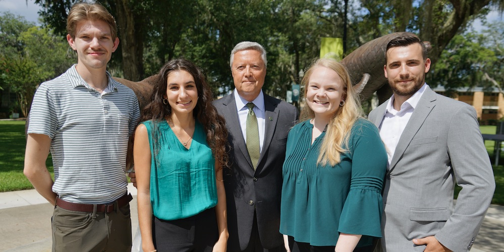
[[[283,166],[280,232],[292,251],[368,251],[381,237],[387,155],[345,67],[318,59]],[[290,241],[290,242],[289,242]],[[290,243],[290,244],[289,244]]]

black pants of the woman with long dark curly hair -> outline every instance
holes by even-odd
[[[157,251],[212,251],[218,240],[215,208],[180,220],[153,218],[152,236]]]

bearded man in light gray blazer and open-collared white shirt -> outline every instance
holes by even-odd
[[[382,248],[467,251],[495,190],[476,111],[425,84],[430,59],[418,37],[391,40],[385,54],[394,94],[369,114],[388,153]]]

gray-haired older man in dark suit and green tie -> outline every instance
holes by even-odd
[[[231,167],[224,171],[231,251],[285,250],[278,232],[282,165],[287,134],[298,111],[262,92],[266,65],[266,51],[260,44],[238,43],[230,56],[235,90],[213,102],[226,119],[231,147]],[[247,106],[250,102],[253,108]],[[249,154],[248,150],[254,142],[247,139],[249,113],[257,119],[257,154]]]

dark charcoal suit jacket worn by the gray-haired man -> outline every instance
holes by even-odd
[[[298,119],[298,110],[285,101],[264,95],[264,143],[257,169],[254,171],[243,139],[234,95],[218,99],[213,105],[226,119],[228,142],[231,146],[231,167],[223,172],[228,203],[228,248],[244,250],[247,247],[254,209],[263,247],[280,246],[283,244],[282,235],[278,231],[282,165],[285,160],[287,135]]]

